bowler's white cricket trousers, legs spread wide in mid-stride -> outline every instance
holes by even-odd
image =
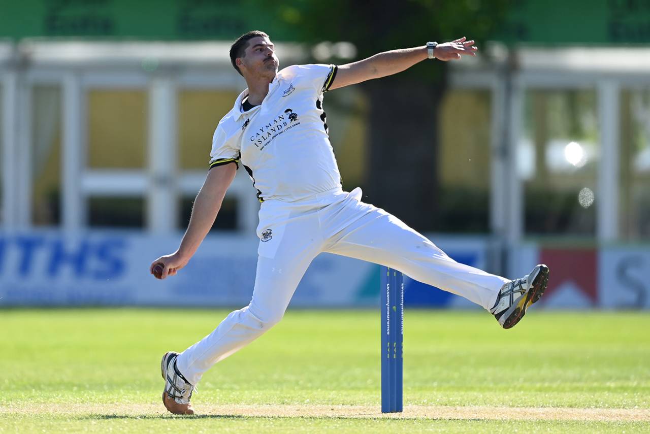
[[[307,267],[324,251],[395,268],[485,309],[494,305],[508,279],[454,261],[395,216],[360,199],[355,188],[308,201],[262,203],[252,300],[179,355],[177,368],[190,383],[278,324]]]

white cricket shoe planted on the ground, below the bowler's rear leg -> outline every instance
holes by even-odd
[[[162,403],[174,415],[194,415],[190,404],[194,386],[192,386],[176,367],[178,353],[168,351],[162,356],[161,374],[164,379]]]

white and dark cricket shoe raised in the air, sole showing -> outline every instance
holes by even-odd
[[[513,327],[536,303],[549,283],[549,267],[539,264],[530,274],[507,282],[499,290],[497,301],[489,311],[504,329]]]

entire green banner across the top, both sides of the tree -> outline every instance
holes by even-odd
[[[309,1],[0,0],[0,38],[231,40],[263,29],[295,40],[298,10]],[[499,28],[493,39],[511,44],[647,44],[650,0],[513,0]]]

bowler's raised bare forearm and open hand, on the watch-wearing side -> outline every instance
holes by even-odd
[[[446,62],[459,59],[461,56],[475,56],[477,50],[474,47],[474,41],[468,41],[463,36],[452,42],[438,44],[434,49],[434,56],[438,60]],[[330,90],[393,75],[411,68],[426,58],[428,58],[426,45],[422,45],[421,47],[384,51],[358,62],[341,65]]]

